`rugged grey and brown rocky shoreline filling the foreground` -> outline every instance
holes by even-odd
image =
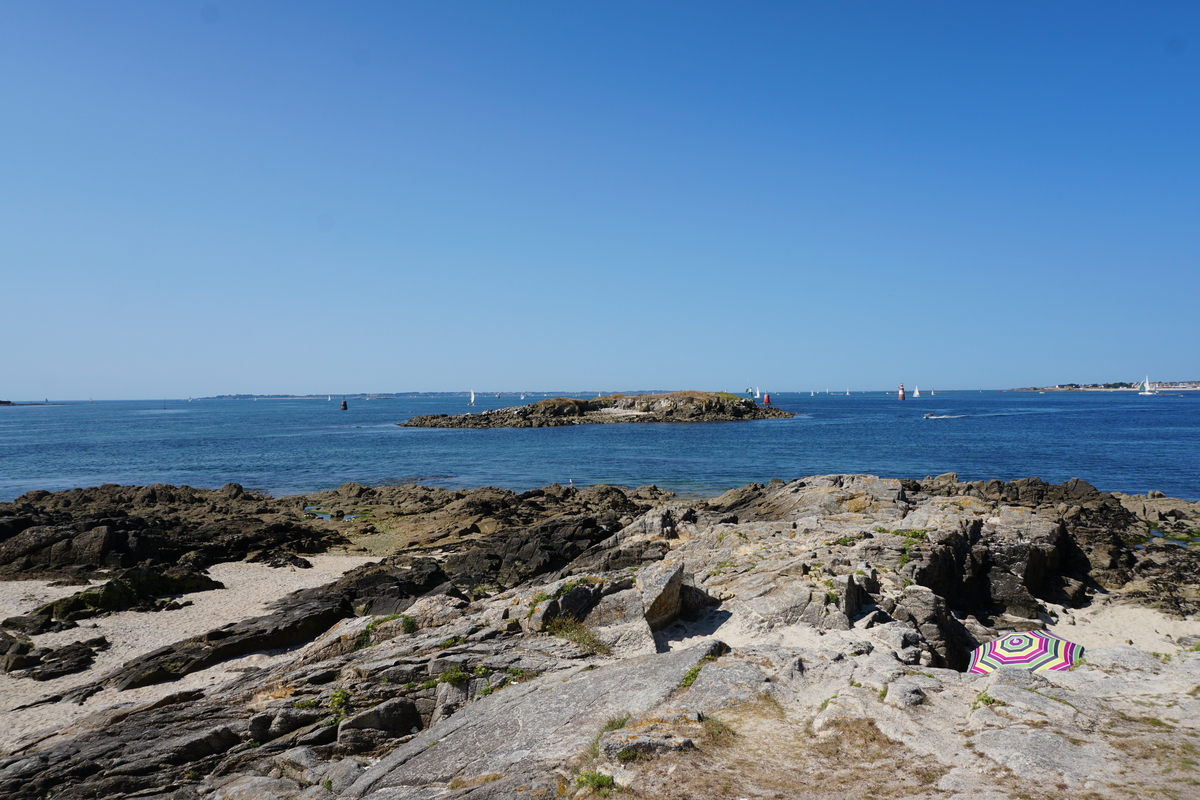
[[[1198,519],[954,475],[31,492],[0,579],[59,588],[0,621],[0,795],[1170,796],[1200,782]],[[95,620],[331,552],[372,561],[92,674]],[[1086,663],[962,672],[1028,630]]]

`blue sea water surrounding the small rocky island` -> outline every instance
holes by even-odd
[[[533,397],[527,402],[532,402]],[[656,483],[710,494],[830,473],[959,480],[1084,479],[1100,489],[1200,499],[1200,393],[773,393],[791,420],[532,429],[402,428],[516,397],[121,401],[0,407],[0,500],[101,483],[230,481],[272,495],[432,486]],[[937,417],[924,419],[926,413]]]

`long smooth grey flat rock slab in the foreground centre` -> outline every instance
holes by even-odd
[[[568,679],[546,675],[505,688],[406,742],[343,796],[400,800],[454,777],[559,764],[586,748],[612,717],[648,711],[666,700],[689,669],[724,646],[712,640]]]

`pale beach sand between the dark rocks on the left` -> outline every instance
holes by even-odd
[[[59,694],[68,688],[91,682],[125,662],[157,648],[186,639],[215,627],[266,613],[268,606],[298,589],[319,587],[342,573],[378,559],[352,555],[307,557],[311,570],[290,567],[271,569],[262,564],[217,564],[209,575],[226,585],[224,589],[198,591],[181,600],[191,606],[170,612],[122,612],[94,620],[79,627],[34,637],[40,646],[61,646],[71,642],[103,636],[110,646],[96,656],[91,669],[64,675],[49,681],[34,681],[0,674],[0,754],[7,754],[55,733],[70,733],[86,727],[86,717],[118,705],[137,705],[175,692],[221,684],[241,675],[246,667],[270,666],[283,657],[281,652],[258,652],[232,660],[209,669],[187,675],[178,681],[118,692],[104,690],[83,705],[49,703],[32,709],[13,711],[17,706],[43,697]],[[0,619],[29,614],[40,606],[72,595],[84,587],[49,587],[43,581],[0,582]]]

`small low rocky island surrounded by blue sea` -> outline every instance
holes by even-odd
[[[748,397],[728,392],[668,392],[666,395],[610,395],[593,399],[548,399],[488,409],[479,414],[430,414],[397,425],[407,428],[550,428],[560,425],[613,422],[732,422],[781,420],[796,416]]]

